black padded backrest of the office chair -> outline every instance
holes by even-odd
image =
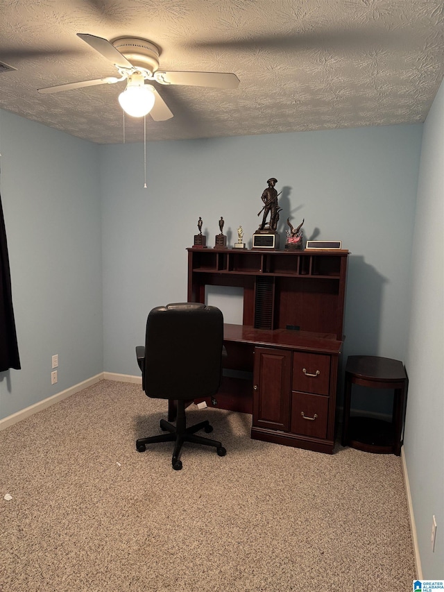
[[[146,321],[145,392],[193,399],[221,384],[223,314],[214,306],[175,303],[151,310]]]

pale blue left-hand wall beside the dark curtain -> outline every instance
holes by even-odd
[[[98,148],[0,111],[0,192],[22,362],[22,370],[0,373],[0,418],[103,371]]]

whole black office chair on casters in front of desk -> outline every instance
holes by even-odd
[[[142,370],[142,389],[148,397],[169,400],[176,412],[176,425],[160,420],[160,429],[169,432],[136,441],[143,453],[146,444],[175,442],[172,464],[182,468],[180,450],[184,442],[214,446],[219,456],[226,454],[221,442],[196,436],[199,430],[212,432],[209,421],[187,428],[185,402],[214,396],[221,385],[223,315],[219,308],[200,303],[176,303],[151,310],[146,321],[145,346],[136,347]],[[174,404],[173,404],[174,402]]]

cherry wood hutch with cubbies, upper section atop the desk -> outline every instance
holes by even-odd
[[[205,285],[244,287],[244,325],[289,326],[342,339],[348,251],[235,251],[189,248],[188,299]]]

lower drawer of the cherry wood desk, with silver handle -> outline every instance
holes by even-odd
[[[314,438],[327,436],[329,398],[293,391],[291,394],[291,432]]]

